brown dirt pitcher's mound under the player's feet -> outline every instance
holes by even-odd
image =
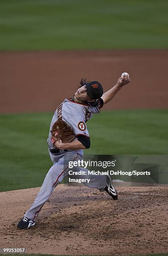
[[[1,192],[1,248],[27,253],[168,252],[168,187],[118,186],[114,201],[97,189],[59,185],[37,225],[16,228],[39,188]]]

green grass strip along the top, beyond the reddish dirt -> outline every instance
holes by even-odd
[[[168,48],[167,0],[1,0],[0,50]]]

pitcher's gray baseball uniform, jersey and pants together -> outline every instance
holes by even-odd
[[[84,136],[89,138],[89,132],[86,128],[86,121],[91,119],[92,115],[99,113],[100,110],[98,107],[92,107],[89,104],[82,104],[75,102],[73,99],[65,99],[61,105],[55,111],[52,122],[50,125],[50,130],[52,125],[57,121],[58,118],[62,118],[67,124],[73,129],[76,139],[79,136]],[[51,133],[49,132],[49,155],[53,162],[53,166],[49,169],[40,192],[38,193],[35,201],[33,202],[30,209],[25,213],[25,217],[36,220],[37,216],[42,209],[44,203],[52,195],[54,188],[62,181],[62,179],[69,172],[69,161],[78,161],[82,160],[83,150],[57,150],[57,153],[51,153],[53,148],[51,142]],[[73,167],[72,171],[79,172],[84,170],[88,172],[87,169],[81,168],[79,166]],[[81,175],[80,179],[87,179],[89,177],[90,182],[84,183],[87,187],[104,189],[106,187],[106,176],[105,175]]]

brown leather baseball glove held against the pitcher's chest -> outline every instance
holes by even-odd
[[[70,143],[74,140],[75,135],[71,127],[67,125],[62,119],[58,119],[53,125],[51,141],[54,146],[56,141],[62,140],[62,143]]]

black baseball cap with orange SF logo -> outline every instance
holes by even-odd
[[[86,82],[86,90],[89,97],[94,100],[99,99],[103,95],[103,87],[97,81]]]

